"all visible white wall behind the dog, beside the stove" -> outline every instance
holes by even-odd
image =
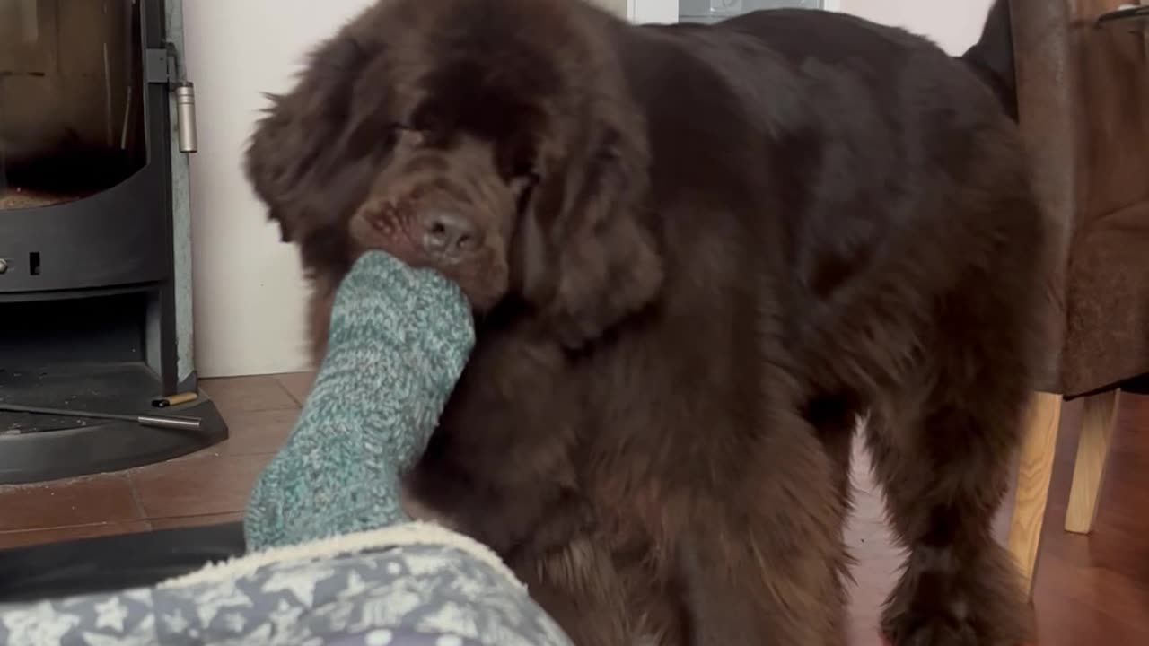
[[[184,2],[200,152],[192,155],[195,362],[201,376],[307,367],[306,290],[294,247],[279,243],[240,169],[261,92],[286,90],[302,54],[372,0]],[[596,0],[622,8],[625,0]],[[655,0],[642,0],[651,2]],[[664,0],[663,0],[664,1]],[[843,10],[907,26],[961,52],[992,0],[840,0]]]

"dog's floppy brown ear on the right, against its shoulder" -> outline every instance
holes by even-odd
[[[663,280],[643,223],[648,169],[641,130],[599,129],[541,182],[516,228],[516,286],[549,331],[577,349],[649,305]]]

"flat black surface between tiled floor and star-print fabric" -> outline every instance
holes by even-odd
[[[244,554],[242,523],[0,551],[0,603],[149,586]]]

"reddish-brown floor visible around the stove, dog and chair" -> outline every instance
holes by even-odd
[[[0,486],[0,547],[238,520],[252,483],[283,443],[307,393],[307,375],[206,383],[228,420],[226,443],[162,464],[43,485]],[[1063,414],[1034,603],[1041,646],[1149,644],[1149,398],[1123,395],[1115,448],[1089,537],[1062,530],[1079,406]],[[900,553],[858,453],[849,541],[859,566],[853,641],[874,628]],[[1004,538],[1003,510],[998,523]]]

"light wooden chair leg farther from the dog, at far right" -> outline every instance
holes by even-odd
[[[1073,463],[1073,487],[1065,512],[1065,531],[1089,533],[1097,516],[1097,495],[1105,475],[1109,443],[1117,418],[1117,390],[1085,398],[1081,438]]]

